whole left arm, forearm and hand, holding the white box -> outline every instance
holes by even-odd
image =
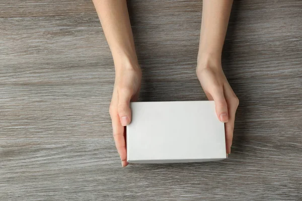
[[[110,116],[115,145],[124,167],[127,165],[124,126],[131,122],[129,103],[138,98],[141,71],[135,53],[127,2],[93,0],[93,3],[100,18],[115,66]]]

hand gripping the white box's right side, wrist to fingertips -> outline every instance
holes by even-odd
[[[225,123],[226,153],[230,154],[239,99],[222,71],[220,60],[198,62],[196,73],[207,98],[215,102],[217,118]]]

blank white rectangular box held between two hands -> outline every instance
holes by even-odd
[[[213,101],[136,102],[126,128],[127,161],[176,163],[226,158],[224,124]]]

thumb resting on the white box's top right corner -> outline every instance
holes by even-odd
[[[215,102],[215,110],[219,121],[223,123],[228,122],[228,104],[226,104],[223,95],[223,88],[221,87],[221,89],[216,89],[215,91],[213,91],[211,96],[213,97]]]

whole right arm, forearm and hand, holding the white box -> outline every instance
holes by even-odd
[[[203,0],[197,77],[217,117],[225,123],[226,153],[231,153],[235,113],[239,100],[221,68],[221,52],[233,0]]]

